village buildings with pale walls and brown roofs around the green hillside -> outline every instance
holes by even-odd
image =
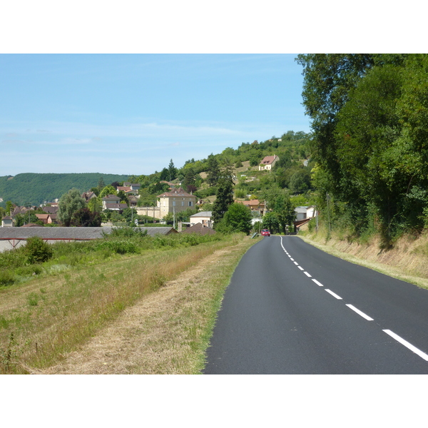
[[[275,163],[279,160],[278,156],[265,156],[263,161],[258,165],[259,171],[272,170]],[[139,183],[124,182],[123,185],[116,186],[116,194],[108,194],[101,198],[103,213],[123,213],[123,210],[128,208],[135,212],[136,220],[132,220],[132,225],[143,227],[149,235],[161,234],[168,235],[171,233],[198,233],[200,235],[213,234],[213,213],[210,210],[200,210],[203,207],[204,200],[197,198],[191,192],[186,192],[181,183],[168,184],[168,191],[165,191],[156,196],[156,205],[154,206],[138,206],[140,198]],[[122,184],[122,183],[121,183]],[[119,193],[125,194],[128,203],[121,202]],[[88,190],[81,194],[82,200],[86,203],[94,198],[97,198],[96,193]],[[234,200],[235,203],[245,205],[251,212],[253,226],[256,223],[263,222],[264,215],[268,212],[266,202],[258,199],[250,200]],[[189,221],[183,222],[175,220],[179,213],[188,209],[196,211],[195,214],[189,216]],[[14,206],[11,208],[9,215],[5,215],[1,219],[0,228],[0,251],[18,248],[25,245],[26,240],[32,236],[39,236],[48,243],[58,241],[85,241],[101,238],[106,233],[110,233],[111,229],[117,227],[111,221],[104,221],[100,227],[63,227],[58,220],[58,200],[52,203],[42,205],[41,207],[32,206]],[[34,213],[36,210],[36,213]],[[295,230],[296,232],[307,225],[311,218],[316,215],[315,206],[298,206],[295,208]],[[37,219],[37,223],[32,223],[31,217]],[[142,224],[137,218],[145,218],[146,221]],[[24,224],[17,227],[18,218]],[[172,218],[172,225],[168,224],[165,219]],[[151,223],[147,223],[151,219]],[[49,227],[55,226],[55,227]],[[255,233],[260,232],[259,228],[254,229]]]

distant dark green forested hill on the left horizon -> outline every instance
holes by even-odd
[[[61,198],[63,193],[71,188],[77,188],[82,193],[96,187],[98,181],[104,183],[128,180],[128,175],[101,173],[68,173],[68,174],[36,174],[23,173],[0,177],[0,198],[11,200],[19,205],[40,205]]]

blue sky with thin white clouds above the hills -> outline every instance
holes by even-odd
[[[0,175],[148,175],[310,131],[297,54],[0,54]]]

